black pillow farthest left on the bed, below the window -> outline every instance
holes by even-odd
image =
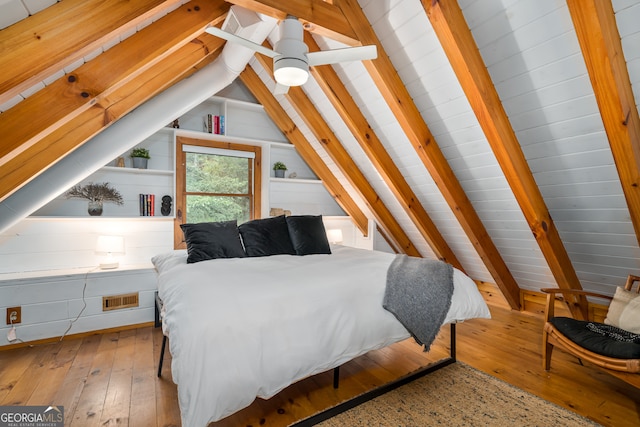
[[[187,264],[216,258],[244,258],[236,221],[181,224]]]

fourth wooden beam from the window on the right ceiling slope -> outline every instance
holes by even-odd
[[[487,270],[496,281],[509,306],[513,309],[519,309],[520,288],[518,284],[438,147],[362,9],[355,0],[341,0],[338,4],[362,44],[377,46],[378,58],[364,61],[365,67],[411,145],[442,192],[462,229],[480,255]]]

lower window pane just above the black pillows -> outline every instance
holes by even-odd
[[[249,197],[187,196],[187,222],[232,221],[238,224],[249,221]]]

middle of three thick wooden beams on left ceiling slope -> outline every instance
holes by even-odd
[[[5,111],[0,115],[0,135],[8,143],[0,147],[0,167],[202,34],[229,8],[222,0],[204,4],[197,11],[182,6]]]

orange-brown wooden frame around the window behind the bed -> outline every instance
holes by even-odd
[[[187,191],[186,191],[186,152],[184,146],[198,146],[205,148],[215,148],[231,151],[251,152],[254,155],[253,167],[253,197],[251,198],[250,218],[261,217],[262,206],[262,147],[257,145],[239,144],[235,142],[213,141],[207,139],[196,139],[178,136],[176,137],[176,197],[175,197],[175,220],[174,220],[174,248],[185,249],[184,233],[180,228],[185,223]],[[233,196],[237,196],[234,194]]]

